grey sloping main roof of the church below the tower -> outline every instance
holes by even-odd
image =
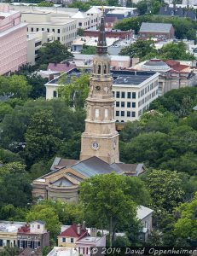
[[[87,160],[79,162],[78,164],[72,166],[72,169],[75,170],[76,172],[81,173],[85,177],[92,177],[95,176],[96,174],[107,174],[110,172],[120,173],[119,171],[114,170],[105,161],[101,160],[96,156],[90,157]]]

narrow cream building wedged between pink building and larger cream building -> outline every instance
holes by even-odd
[[[27,63],[35,65],[38,49],[45,43],[54,42],[54,32],[39,31],[27,33]]]

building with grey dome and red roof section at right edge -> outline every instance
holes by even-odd
[[[194,68],[186,61],[162,61],[152,59],[142,61],[132,67],[133,70],[154,71],[159,73],[158,95],[163,96],[167,91],[197,84]]]

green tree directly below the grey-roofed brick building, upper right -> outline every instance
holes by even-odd
[[[150,52],[156,54],[154,41],[138,39],[135,43],[130,44],[130,46],[121,49],[119,55],[130,55],[131,58],[138,57],[141,59]]]

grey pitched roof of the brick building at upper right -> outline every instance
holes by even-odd
[[[171,23],[142,22],[140,32],[170,32]]]

